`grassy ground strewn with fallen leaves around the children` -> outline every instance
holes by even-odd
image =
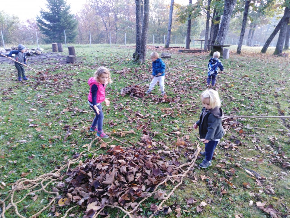
[[[225,73],[251,81],[225,75],[218,77],[215,89],[219,91],[225,115],[289,116],[289,58],[272,55],[273,48],[267,54],[260,54],[261,48],[243,49],[243,53],[237,55],[232,48],[230,59],[221,58]],[[43,71],[36,74],[27,70],[30,80],[24,83],[17,81],[14,64],[0,59],[0,199],[7,196],[15,181],[33,179],[59,169],[69,158],[86,150],[95,138],[88,131],[94,115],[87,104],[87,80],[98,66],[111,69],[114,81],[107,87],[111,105],[103,107],[104,130],[134,130],[136,133],[114,136],[116,140],[112,144],[146,147],[153,153],[180,147],[177,161],[187,162],[188,147],[182,146],[181,137],[192,145],[198,141],[198,131],[192,125],[202,108],[199,95],[205,90],[207,77],[204,70],[190,65],[206,68],[209,56],[208,53],[184,54],[179,53],[178,48],[166,50],[149,46],[147,54],[152,51],[172,54],[171,59],[164,59],[167,69],[194,58],[166,74],[165,97],[160,96],[158,85],[151,95],[144,96],[149,82],[131,96],[120,95],[121,88],[150,77],[150,59],[143,65],[134,63],[131,60],[134,47],[131,46],[79,46],[74,64],[65,64],[63,58],[50,53],[33,61],[28,57],[28,65]],[[290,213],[289,119],[237,118],[225,121],[224,128],[226,135],[215,151],[213,165],[206,170],[199,169],[200,156],[189,177],[156,217],[287,217]],[[100,146],[94,143],[91,150]],[[104,146],[97,154],[107,154],[107,150]],[[86,154],[82,161],[92,157],[93,154]],[[65,180],[66,176],[61,179]],[[162,187],[162,190],[170,189],[170,185]],[[16,193],[15,201],[29,191]],[[61,194],[58,199],[65,197]],[[149,198],[142,203],[143,211],[139,214],[149,217],[154,204],[161,199]],[[18,204],[18,211],[29,217],[50,200],[48,193],[31,194]],[[39,217],[62,217],[72,205],[72,202],[69,206],[56,203]],[[83,217],[84,211],[77,207],[69,214]],[[106,212],[111,217],[124,216],[118,209],[109,208]],[[5,217],[17,215],[11,208]]]

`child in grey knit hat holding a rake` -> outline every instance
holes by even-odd
[[[22,44],[18,45],[18,50],[14,50],[14,51],[10,51],[10,53],[8,54],[9,58],[12,59],[12,54],[15,54],[15,61],[18,61],[20,63],[24,63],[24,67],[26,67],[26,58],[25,58],[25,52],[26,47]],[[18,71],[18,80],[21,81],[22,79],[24,80],[28,80],[28,78],[25,76],[25,70],[22,64],[19,64],[17,62],[15,62],[15,67]],[[22,78],[21,78],[21,74],[22,74]]]

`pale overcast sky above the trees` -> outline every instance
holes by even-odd
[[[154,0],[151,0],[154,1]],[[72,14],[76,14],[86,0],[66,0],[66,3],[70,5]],[[170,2],[170,0],[167,0]],[[186,5],[188,0],[175,0],[175,3]],[[2,0],[0,10],[7,14],[17,15],[21,20],[35,19],[36,15],[39,15],[41,8],[46,8],[46,0]]]

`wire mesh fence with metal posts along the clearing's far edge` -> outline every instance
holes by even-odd
[[[37,45],[37,47],[41,45],[47,45],[50,43],[63,43],[67,46],[67,43],[70,45],[92,45],[92,44],[108,44],[108,45],[136,45],[136,33],[134,31],[131,32],[106,32],[106,31],[85,31],[79,32],[78,35],[73,35],[76,33],[70,33],[63,31],[42,31],[42,32],[35,32],[29,36],[29,41],[27,41],[26,45]],[[1,31],[2,41],[0,45],[5,48],[5,40],[3,33]],[[147,45],[158,45],[164,46],[166,43],[165,34],[153,34],[147,35]],[[191,39],[195,39],[192,37]],[[202,39],[202,38],[201,38]],[[25,43],[25,41],[24,41]],[[186,36],[182,35],[171,35],[170,37],[170,46],[179,46],[185,47],[186,43]],[[202,48],[201,45],[202,41],[191,41],[190,47],[191,48]],[[204,43],[204,37],[203,37]],[[225,39],[224,44],[226,45],[238,45],[239,39],[238,38],[230,38],[227,37]],[[16,43],[18,44],[18,43]],[[16,45],[15,44],[15,45]],[[242,45],[247,45],[247,40],[243,40]],[[252,46],[263,46],[264,43],[260,41],[253,40],[251,42]],[[272,42],[270,46],[276,46],[276,42]]]

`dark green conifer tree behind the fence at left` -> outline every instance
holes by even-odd
[[[36,21],[40,31],[46,35],[46,42],[64,42],[64,30],[66,41],[74,42],[78,34],[78,22],[74,15],[70,14],[70,5],[65,0],[47,0],[48,12],[41,9]],[[55,31],[55,32],[52,32]]]

